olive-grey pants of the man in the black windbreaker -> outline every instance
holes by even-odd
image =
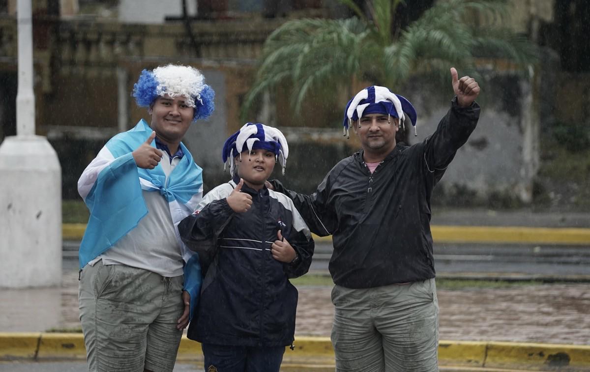
[[[438,371],[434,279],[403,285],[332,289],[336,371]]]

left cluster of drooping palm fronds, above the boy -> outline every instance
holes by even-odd
[[[297,19],[278,28],[264,44],[263,63],[242,115],[264,91],[286,83],[293,87],[291,104],[299,111],[310,89],[333,88],[358,73],[359,55],[370,32],[357,18]]]

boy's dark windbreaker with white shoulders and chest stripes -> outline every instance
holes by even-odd
[[[290,345],[297,289],[289,278],[307,272],[314,242],[289,197],[266,187],[257,192],[244,185],[241,191],[252,196],[252,207],[235,213],[226,197],[236,181],[207,193],[197,212],[178,225],[205,272],[188,338],[222,345]],[[271,255],[279,229],[299,256],[293,264]]]

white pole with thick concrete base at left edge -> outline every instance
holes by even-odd
[[[18,0],[17,136],[0,145],[0,287],[61,283],[61,167],[35,136],[31,0]]]

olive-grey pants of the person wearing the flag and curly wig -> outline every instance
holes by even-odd
[[[126,265],[86,265],[78,292],[89,370],[172,371],[182,331],[183,276]]]

